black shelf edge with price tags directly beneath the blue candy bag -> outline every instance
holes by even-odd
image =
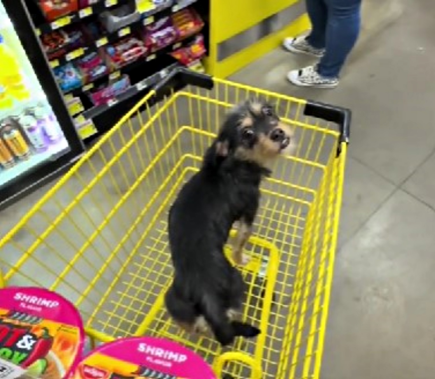
[[[87,83],[84,86],[77,88],[77,89],[74,89],[74,90],[65,91],[64,93],[71,94],[73,96],[80,96],[81,93],[85,93],[89,90],[92,90],[94,87],[98,86],[99,84],[104,83],[104,81],[107,81],[110,79],[116,79],[117,77],[121,76],[122,74],[129,73],[131,70],[134,70],[139,66],[142,66],[144,63],[151,62],[151,61],[157,59],[158,57],[161,57],[162,55],[165,55],[167,53],[171,53],[172,51],[177,50],[180,47],[187,46],[189,43],[193,42],[193,40],[195,39],[195,37],[199,33],[201,33],[201,30],[198,30],[195,34],[184,38],[184,40],[177,41],[177,42],[175,42],[167,47],[164,47],[161,50],[158,50],[155,53],[148,55],[147,57],[139,58],[139,59],[135,60],[134,62],[132,62],[124,67],[121,67],[119,70],[116,70],[116,71],[109,73],[109,74],[99,76],[98,78],[93,80],[91,83]]]

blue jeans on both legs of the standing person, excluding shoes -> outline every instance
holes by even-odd
[[[325,48],[318,64],[321,76],[337,78],[358,39],[361,0],[306,0],[312,30],[308,43]]]

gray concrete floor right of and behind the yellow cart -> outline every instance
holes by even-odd
[[[335,90],[298,89],[311,62],[276,50],[234,80],[351,108],[322,379],[429,379],[435,369],[435,8],[366,0]]]

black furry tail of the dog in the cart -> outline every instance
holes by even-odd
[[[222,345],[230,345],[236,337],[252,338],[260,334],[260,329],[245,322],[230,321],[226,310],[218,299],[207,296],[202,301],[202,312],[215,338]]]

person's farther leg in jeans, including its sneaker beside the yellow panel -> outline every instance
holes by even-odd
[[[283,41],[283,46],[292,53],[321,57],[325,52],[328,9],[325,0],[306,0],[305,3],[311,21],[311,33],[308,37],[287,37]]]

